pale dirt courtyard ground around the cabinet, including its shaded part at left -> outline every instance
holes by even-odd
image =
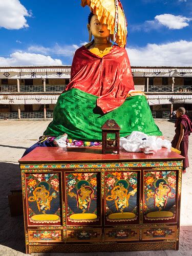
[[[11,217],[7,196],[11,189],[20,189],[20,170],[17,160],[27,147],[34,144],[45,131],[49,121],[0,121],[0,255],[26,255],[23,216]],[[166,139],[174,136],[174,123],[156,120]],[[192,135],[189,138],[190,168],[182,179],[181,230],[179,251],[145,251],[113,253],[65,253],[65,255],[192,255]],[[115,244],[114,244],[115,246]],[[32,255],[61,255],[62,253],[33,253]]]

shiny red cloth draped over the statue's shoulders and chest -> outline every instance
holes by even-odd
[[[130,61],[126,50],[113,46],[102,58],[82,46],[75,52],[71,67],[72,88],[98,96],[97,105],[103,113],[117,109],[134,90]]]

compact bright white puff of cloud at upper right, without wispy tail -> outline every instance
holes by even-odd
[[[155,19],[169,29],[185,28],[189,26],[188,22],[192,20],[191,18],[187,18],[184,16],[180,16],[180,15],[175,16],[173,14],[166,14],[166,13],[155,16]]]

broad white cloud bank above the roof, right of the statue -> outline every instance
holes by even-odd
[[[192,41],[147,44],[143,48],[127,48],[132,66],[192,66]]]

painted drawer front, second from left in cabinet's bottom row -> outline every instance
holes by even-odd
[[[102,231],[94,229],[67,230],[67,242],[101,242]]]

